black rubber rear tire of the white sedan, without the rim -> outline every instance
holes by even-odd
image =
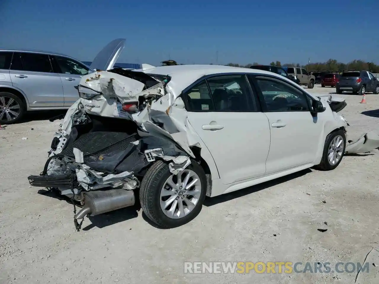
[[[147,170],[139,189],[141,208],[146,216],[161,228],[175,228],[182,226],[199,215],[207,193],[207,179],[204,170],[192,161],[186,169],[193,170],[200,178],[201,193],[195,208],[182,218],[173,219],[164,214],[160,206],[160,193],[166,180],[171,176],[169,166],[163,161],[156,161]]]

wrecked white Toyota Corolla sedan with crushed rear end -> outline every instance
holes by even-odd
[[[28,177],[80,203],[77,229],[86,215],[135,204],[135,194],[152,222],[174,228],[199,214],[205,196],[314,165],[333,170],[351,145],[379,146],[368,134],[347,145],[336,113],[345,100],[273,72],[144,66],[83,76],[44,170]]]

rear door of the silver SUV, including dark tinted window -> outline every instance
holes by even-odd
[[[13,86],[25,93],[31,108],[64,105],[62,81],[48,55],[14,52],[10,69]]]

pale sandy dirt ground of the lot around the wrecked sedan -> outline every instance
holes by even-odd
[[[334,90],[316,85],[311,92]],[[348,103],[341,113],[351,138],[378,129],[379,95],[366,95],[366,105],[360,96],[338,96]],[[183,262],[308,261],[333,268],[363,263],[371,245],[379,246],[370,244],[379,242],[378,151],[345,156],[332,172],[305,170],[207,198],[200,215],[176,229],[157,229],[142,211],[127,208],[85,218],[76,232],[72,205],[28,184],[28,175],[42,171],[61,122],[37,118],[0,131],[0,283],[354,283],[356,272],[184,274]],[[366,261],[369,273],[357,283],[377,283],[379,252]]]

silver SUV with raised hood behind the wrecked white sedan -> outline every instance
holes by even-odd
[[[91,66],[67,55],[0,48],[0,124],[20,121],[26,111],[68,109],[83,75],[114,66],[125,39],[104,47]]]

